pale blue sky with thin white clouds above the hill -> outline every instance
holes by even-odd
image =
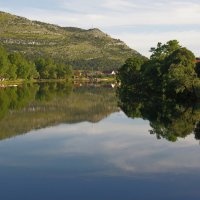
[[[99,28],[145,56],[172,39],[200,56],[200,0],[0,0],[0,10],[60,26]]]

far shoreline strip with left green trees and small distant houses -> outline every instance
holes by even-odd
[[[9,53],[0,46],[0,87],[29,82],[115,82],[115,74],[113,70],[72,70],[71,65],[46,57],[31,61],[20,52]]]

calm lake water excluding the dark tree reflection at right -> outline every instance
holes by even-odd
[[[0,198],[200,199],[200,145],[150,134],[108,85],[0,89]]]

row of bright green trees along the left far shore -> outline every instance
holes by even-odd
[[[71,76],[70,65],[43,57],[30,61],[22,53],[9,53],[0,46],[0,80],[64,79]]]

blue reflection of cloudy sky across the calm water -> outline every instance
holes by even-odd
[[[48,199],[57,193],[79,199],[73,196],[75,188],[88,199],[148,199],[150,191],[162,199],[198,199],[200,147],[194,135],[171,143],[157,140],[149,129],[148,121],[127,119],[120,112],[96,124],[61,124],[1,141],[0,186],[18,193],[27,187]],[[84,193],[92,187],[94,193]],[[55,193],[48,196],[46,190],[52,188]],[[12,199],[8,194],[3,193]]]

